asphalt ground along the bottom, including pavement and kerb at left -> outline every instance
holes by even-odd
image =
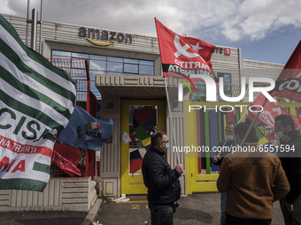
[[[97,199],[89,212],[0,213],[0,225],[140,225],[151,224],[145,195],[127,196],[122,203]],[[182,197],[174,214],[174,225],[220,224],[220,193],[197,193]],[[272,225],[284,225],[279,202],[274,203]]]

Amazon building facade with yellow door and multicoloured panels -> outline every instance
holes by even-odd
[[[24,42],[29,41],[26,19],[9,15],[4,15],[4,18],[16,28]],[[184,166],[180,178],[183,196],[199,191],[217,191],[215,182],[219,168],[212,165],[212,153],[192,153],[187,147],[183,151],[181,146],[190,149],[217,146],[224,139],[225,124],[237,122],[243,116],[244,108],[250,106],[247,94],[239,103],[225,102],[217,91],[218,101],[206,102],[205,84],[198,83],[197,94],[184,88],[183,101],[170,98],[170,118],[157,37],[50,21],[39,24],[37,34],[40,29],[36,51],[42,56],[88,59],[90,90],[101,106],[97,117],[104,121],[111,117],[114,122],[112,139],[97,152],[100,161],[97,172],[106,194],[119,198],[121,194],[147,193],[141,165],[143,155],[151,145],[150,136],[155,131],[166,131],[169,137],[170,149],[166,159],[172,168],[177,164],[174,146],[179,146],[178,155]],[[243,60],[242,49],[237,48],[216,46],[212,54],[213,71],[218,78],[224,79],[224,92],[228,96],[239,95],[242,77],[275,80],[282,67],[282,64]],[[166,81],[168,86],[174,85]],[[190,105],[202,106],[202,110],[189,112]],[[204,106],[206,110],[203,110]],[[282,107],[297,116],[300,106],[284,100]]]

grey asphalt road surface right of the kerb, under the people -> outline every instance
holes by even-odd
[[[127,196],[123,203],[102,204],[95,218],[95,224],[140,225],[151,224],[151,213],[146,196]],[[220,224],[220,193],[197,193],[182,197],[174,214],[174,225]],[[284,225],[279,202],[274,203],[272,225]]]

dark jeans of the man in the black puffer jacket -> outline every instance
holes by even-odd
[[[165,205],[152,205],[149,203],[151,210],[151,225],[172,225],[174,224],[174,203]]]

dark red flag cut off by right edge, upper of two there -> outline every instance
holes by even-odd
[[[289,57],[270,94],[301,102],[301,41]]]

